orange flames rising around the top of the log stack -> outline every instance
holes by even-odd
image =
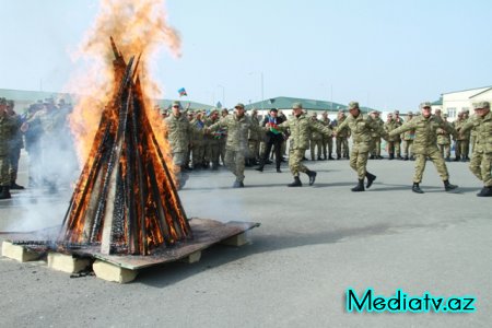
[[[114,85],[114,54],[108,47],[113,36],[121,54],[138,57],[141,54],[139,78],[148,116],[163,154],[169,154],[169,145],[164,139],[164,125],[160,113],[154,109],[152,98],[162,95],[159,85],[152,80],[149,62],[155,54],[167,45],[172,54],[180,56],[178,33],[166,22],[164,0],[102,0],[94,26],[85,36],[75,56],[90,65],[83,74],[72,79],[69,90],[79,95],[70,116],[80,163],[87,159],[101,114],[112,99]],[[128,58],[125,58],[128,60]],[[143,65],[145,63],[145,65]],[[172,161],[166,157],[169,167]]]

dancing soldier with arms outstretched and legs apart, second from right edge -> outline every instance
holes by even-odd
[[[446,191],[453,190],[458,186],[449,184],[449,174],[443,155],[437,148],[437,129],[443,129],[450,134],[455,134],[452,126],[446,125],[441,118],[432,116],[431,103],[420,104],[422,115],[403,124],[398,129],[389,132],[389,136],[400,134],[408,130],[415,130],[415,140],[413,141],[413,154],[415,155],[415,175],[413,176],[412,191],[423,194],[419,184],[422,181],[422,175],[425,169],[425,161],[429,157],[435,165],[444,183]]]

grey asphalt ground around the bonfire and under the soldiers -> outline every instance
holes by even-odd
[[[26,159],[21,159],[25,164]],[[0,258],[1,327],[490,327],[492,201],[467,163],[448,163],[445,192],[432,163],[411,191],[414,162],[370,161],[377,175],[351,192],[348,161],[308,161],[314,186],[288,188],[288,167],[248,168],[233,189],[225,169],[191,174],[179,191],[189,218],[260,222],[251,244],[213,246],[197,263],[141,270],[129,284],[72,279],[42,261]],[[25,165],[24,165],[25,166]],[[21,172],[26,184],[26,172]],[[0,201],[1,231],[60,224],[69,188],[14,191]],[[0,235],[1,237],[1,235]],[[475,297],[471,313],[348,312],[347,291],[391,297],[425,292]]]

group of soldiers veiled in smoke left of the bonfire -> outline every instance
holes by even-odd
[[[16,184],[23,148],[30,157],[30,187],[47,187],[55,192],[60,180],[73,177],[77,161],[68,126],[71,109],[65,99],[55,104],[47,98],[19,115],[13,101],[0,98],[0,199],[11,198],[12,189],[24,189]]]

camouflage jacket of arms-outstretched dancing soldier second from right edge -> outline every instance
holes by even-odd
[[[437,149],[437,129],[440,128],[449,134],[456,134],[453,126],[447,125],[443,119],[435,116],[425,118],[421,115],[393,130],[389,132],[389,136],[396,136],[405,131],[415,130],[413,153],[426,154]]]

